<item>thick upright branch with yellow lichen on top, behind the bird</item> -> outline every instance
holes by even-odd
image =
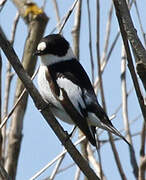
[[[36,57],[33,56],[33,53],[43,36],[46,24],[48,22],[48,17],[35,3],[26,3],[26,0],[13,0],[13,3],[18,8],[20,16],[28,25],[28,35],[25,42],[22,62],[25,70],[31,76],[36,65]],[[17,79],[14,103],[17,101],[23,89],[23,83],[20,81],[20,79]],[[8,146],[6,152],[6,156],[8,158],[5,159],[5,168],[12,179],[15,179],[16,176],[27,99],[28,94],[26,93],[22,98],[21,103],[19,103],[19,105],[16,107],[10,124],[11,128],[9,130]]]

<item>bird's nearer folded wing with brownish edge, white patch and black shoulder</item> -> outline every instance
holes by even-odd
[[[49,66],[48,73],[55,97],[88,140],[96,145],[94,133],[87,123],[86,104],[83,98],[84,89],[88,88],[92,93],[94,90],[84,69],[77,60],[71,60]]]

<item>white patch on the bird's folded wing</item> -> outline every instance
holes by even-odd
[[[82,108],[85,108],[84,101],[82,99],[82,91],[79,86],[74,84],[71,80],[60,77],[57,79],[57,83],[60,88],[63,88],[65,92],[68,95],[68,98],[74,105],[74,107],[78,110],[78,112],[82,115],[80,109],[79,109],[79,103],[82,106]],[[62,98],[62,93],[60,94],[60,98]]]

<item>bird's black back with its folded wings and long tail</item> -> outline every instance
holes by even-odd
[[[88,113],[93,113],[97,117],[97,121],[100,121],[103,129],[120,136],[126,141],[119,131],[114,128],[107,114],[98,103],[89,77],[77,60],[73,59],[53,64],[48,67],[48,70],[55,97],[93,145],[96,145],[95,132],[87,122]],[[95,123],[95,126],[97,124]]]

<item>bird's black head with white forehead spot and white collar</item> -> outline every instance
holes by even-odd
[[[34,55],[41,56],[44,65],[74,58],[68,41],[60,34],[50,34],[42,38]]]

